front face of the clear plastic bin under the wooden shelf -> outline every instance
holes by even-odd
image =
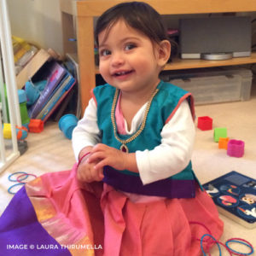
[[[172,79],[170,83],[191,92],[195,105],[241,100],[240,75]]]

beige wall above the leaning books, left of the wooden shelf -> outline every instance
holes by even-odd
[[[59,0],[7,0],[12,34],[62,54]]]

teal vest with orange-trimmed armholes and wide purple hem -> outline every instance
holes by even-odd
[[[137,150],[151,150],[160,145],[160,132],[163,126],[169,119],[172,119],[172,115],[183,100],[187,99],[189,101],[191,113],[194,115],[193,98],[190,93],[163,81],[160,81],[157,88],[159,90],[151,102],[145,128],[136,139],[126,143],[130,153]],[[111,108],[115,90],[110,84],[104,84],[93,90],[93,96],[96,100],[97,122],[102,133],[102,143],[119,149],[121,143],[114,137],[111,121]],[[120,139],[131,137],[130,135],[120,134],[118,136]],[[112,185],[116,189],[141,195],[159,195],[170,198],[195,196],[195,174],[192,171],[191,162],[182,172],[146,185],[143,185],[139,173],[128,170],[118,171],[111,166],[105,166],[103,182]]]

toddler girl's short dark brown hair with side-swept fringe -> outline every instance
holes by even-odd
[[[137,31],[143,32],[156,44],[167,39],[161,16],[154,8],[148,3],[127,2],[114,5],[99,17],[95,29],[97,45],[99,33],[105,29],[109,31],[115,22],[121,19]]]

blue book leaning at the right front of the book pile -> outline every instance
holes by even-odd
[[[61,80],[55,91],[50,96],[49,101],[44,105],[44,108],[38,113],[36,119],[42,119],[44,122],[49,119],[51,113],[61,104],[67,94],[73,88],[76,80],[67,72],[66,76]]]

